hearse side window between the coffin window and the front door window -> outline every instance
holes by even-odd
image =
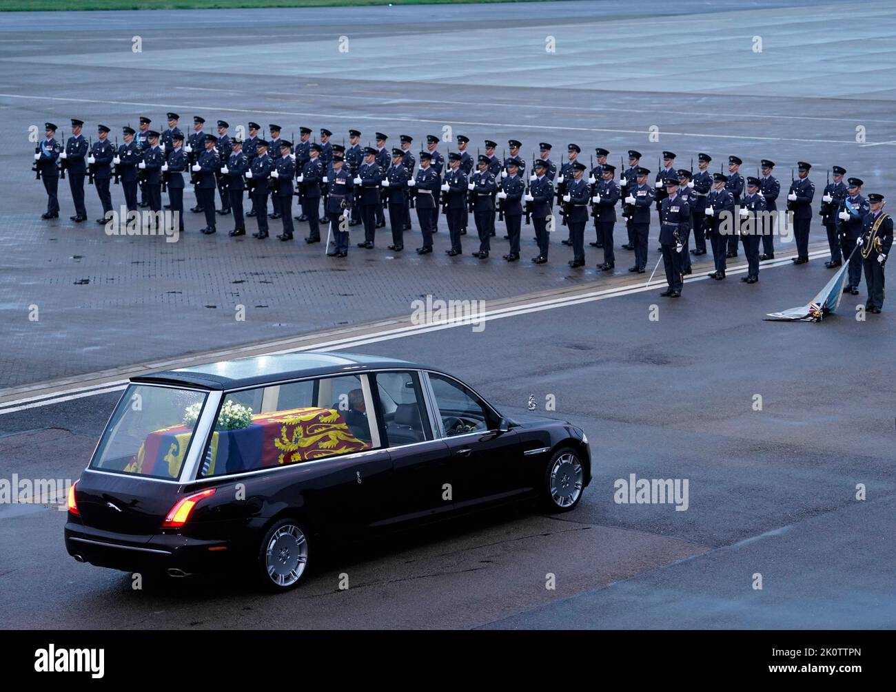
[[[377,372],[376,390],[389,447],[432,440],[416,372]]]

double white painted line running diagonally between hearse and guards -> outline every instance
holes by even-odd
[[[827,255],[829,251],[827,250],[817,250],[809,253],[810,259],[817,259]],[[760,263],[760,266],[763,269],[770,269],[771,267],[782,267],[787,266],[790,263],[790,260],[793,256],[781,257],[780,259],[764,261]],[[740,264],[735,267],[731,267],[727,269],[727,275],[737,275],[743,274],[747,271],[746,264]],[[694,281],[706,281],[708,280],[705,276],[694,276],[685,278],[685,283],[691,284]],[[643,293],[645,291],[655,290],[659,286],[665,286],[665,279],[657,279],[656,281],[650,282],[650,284],[638,284],[636,286],[616,286],[611,288],[604,288],[599,291],[591,291],[590,293],[578,294],[578,295],[565,295],[557,298],[549,298],[547,300],[537,301],[535,303],[524,303],[521,305],[512,305],[506,308],[498,308],[492,311],[487,311],[486,314],[479,318],[481,321],[488,320],[501,320],[505,317],[516,317],[519,315],[530,314],[531,312],[542,312],[545,310],[554,310],[556,308],[564,308],[570,307],[572,305],[579,305],[582,303],[591,303],[594,301],[605,300],[607,298],[616,298],[622,295],[633,295],[638,293]],[[280,355],[280,354],[288,354],[288,353],[303,353],[306,351],[338,351],[345,348],[353,348],[356,346],[366,346],[368,344],[376,344],[381,341],[389,341],[395,338],[415,336],[418,334],[426,334],[431,331],[438,331],[441,329],[454,329],[458,327],[470,327],[470,324],[459,324],[454,321],[441,321],[435,322],[433,324],[424,324],[424,325],[404,325],[398,328],[392,329],[384,329],[378,333],[372,335],[364,335],[357,337],[342,337],[336,339],[330,339],[327,341],[319,341],[314,344],[307,344],[306,346],[299,347],[289,347],[282,349],[271,349],[268,351],[258,352],[255,355]],[[246,346],[242,346],[240,348],[234,348],[229,350],[224,350],[220,352],[221,356],[226,356],[229,354],[240,353],[241,351],[245,351]],[[224,358],[222,358],[224,359]],[[177,365],[176,365],[177,367]],[[147,371],[151,372],[151,371]],[[38,408],[39,406],[50,406],[53,404],[60,404],[65,401],[72,401],[73,399],[83,398],[83,397],[93,397],[99,394],[108,394],[109,392],[120,391],[125,389],[127,384],[127,380],[117,380],[116,382],[106,383],[103,385],[95,385],[89,388],[74,388],[74,389],[63,389],[60,392],[54,394],[47,394],[43,397],[26,397],[22,399],[16,399],[13,401],[6,402],[3,407],[0,407],[0,415],[3,414],[13,414],[16,411],[23,411],[30,408]],[[98,389],[99,388],[99,389]],[[63,396],[58,396],[62,394]],[[35,399],[40,399],[39,401],[35,401]]]

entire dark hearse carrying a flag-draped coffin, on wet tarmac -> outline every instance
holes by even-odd
[[[258,356],[132,379],[69,492],[65,547],[171,577],[246,567],[282,591],[318,539],[530,498],[566,511],[590,478],[582,430],[510,420],[438,369]]]

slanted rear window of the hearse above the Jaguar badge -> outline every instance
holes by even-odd
[[[90,468],[177,478],[206,394],[132,384],[103,431]]]

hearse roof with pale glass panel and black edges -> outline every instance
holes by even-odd
[[[240,389],[318,375],[352,374],[383,368],[427,368],[379,355],[301,353],[256,355],[235,361],[191,365],[131,378],[132,382],[191,385],[203,389]]]

